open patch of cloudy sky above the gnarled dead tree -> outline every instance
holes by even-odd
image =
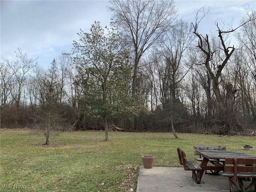
[[[210,33],[216,30],[216,23],[221,27],[228,27],[228,24],[238,26],[240,19],[246,16],[245,10],[256,8],[255,0],[176,0],[176,5],[179,8],[179,16],[195,22],[196,13],[200,8],[204,7],[207,15],[202,19],[199,29],[203,33]],[[203,12],[199,13],[199,18],[203,16]],[[225,25],[224,25],[225,24]]]

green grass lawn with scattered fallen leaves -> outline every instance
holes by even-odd
[[[256,155],[254,136],[109,132],[62,132],[50,146],[31,130],[0,133],[0,191],[136,191],[141,156],[155,156],[154,166],[180,166],[176,148],[194,159],[193,145],[223,145]],[[244,151],[249,144],[252,150]],[[76,148],[80,146],[81,148]],[[25,186],[25,189],[22,187]],[[16,188],[16,189],[15,189]]]

